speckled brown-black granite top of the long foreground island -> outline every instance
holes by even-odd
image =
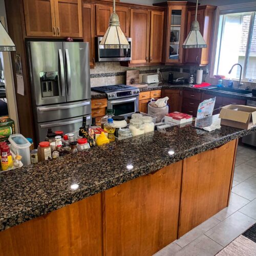
[[[173,126],[2,172],[0,231],[254,131],[256,127],[245,131],[222,126],[208,133],[192,124]],[[73,184],[79,185],[76,190]]]

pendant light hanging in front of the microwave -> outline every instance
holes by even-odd
[[[103,36],[100,49],[129,49],[130,45],[120,28],[119,17],[116,14],[115,0],[113,1],[113,13],[110,16],[109,28]]]

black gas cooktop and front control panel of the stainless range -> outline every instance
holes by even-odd
[[[125,84],[116,84],[114,86],[100,86],[92,88],[95,92],[105,93],[108,99],[119,99],[133,96],[139,96],[139,89]]]

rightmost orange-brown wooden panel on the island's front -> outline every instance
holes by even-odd
[[[179,237],[228,206],[236,140],[183,160]]]

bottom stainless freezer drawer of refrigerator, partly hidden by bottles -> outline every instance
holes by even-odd
[[[37,123],[37,141],[44,141],[48,128],[52,128],[52,131],[63,131],[64,134],[79,131],[82,126],[82,117],[75,117],[69,119],[62,119],[53,122]],[[88,123],[91,124],[91,115],[87,115]]]

